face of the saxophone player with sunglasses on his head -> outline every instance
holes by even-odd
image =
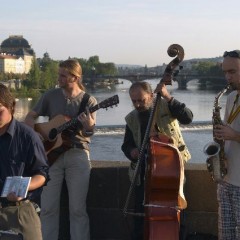
[[[232,89],[240,91],[240,59],[225,57],[222,63],[222,70]]]

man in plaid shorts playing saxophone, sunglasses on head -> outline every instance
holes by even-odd
[[[240,50],[225,52],[222,70],[233,90],[227,97],[224,124],[214,127],[216,139],[224,140],[227,174],[218,183],[218,239],[240,239]]]

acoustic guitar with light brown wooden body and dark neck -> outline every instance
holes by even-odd
[[[118,95],[114,95],[89,108],[89,112],[93,113],[101,108],[103,109],[105,108],[107,110],[108,107],[113,107],[114,105],[117,106],[118,103],[119,103]],[[50,165],[52,165],[53,162],[58,157],[56,156],[52,158],[52,155],[50,153],[54,149],[59,148],[63,145],[62,132],[77,124],[80,124],[78,116],[70,119],[68,116],[60,114],[52,118],[49,122],[37,123],[34,125],[35,131],[37,131],[40,134],[40,137],[43,141],[43,145],[48,156]],[[49,159],[50,155],[51,161]]]

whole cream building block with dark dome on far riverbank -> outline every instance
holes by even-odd
[[[34,50],[22,35],[10,35],[0,45],[0,72],[28,73]]]

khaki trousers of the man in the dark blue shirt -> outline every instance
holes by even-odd
[[[40,218],[28,200],[18,206],[0,207],[0,230],[12,230],[24,240],[42,240]]]

